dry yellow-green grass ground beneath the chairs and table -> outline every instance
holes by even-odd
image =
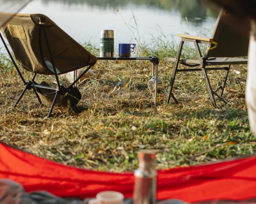
[[[93,53],[98,51],[85,46]],[[151,78],[149,62],[99,61],[93,69],[101,79],[79,87],[82,113],[55,108],[52,118],[46,118],[49,106],[39,106],[31,90],[13,108],[23,85],[10,60],[2,56],[0,141],[62,164],[114,172],[137,168],[137,152],[145,148],[157,150],[158,169],[254,154],[255,137],[240,94],[245,90],[246,66],[239,75],[230,72],[224,92],[228,105],[217,101],[217,108],[211,106],[201,72],[178,73],[174,95],[180,103],[166,104],[173,65],[163,57],[175,56],[175,48],[173,44],[155,50],[142,47],[146,56],[156,55],[161,60],[163,90],[157,107],[146,86]],[[191,56],[193,51],[187,47],[183,55]],[[23,73],[26,79],[31,77]],[[221,83],[222,73],[209,73],[213,87]]]

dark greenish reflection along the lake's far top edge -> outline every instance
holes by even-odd
[[[45,4],[58,2],[66,5],[86,4],[101,9],[126,8],[132,4],[165,11],[178,11],[183,20],[186,19],[196,25],[200,25],[208,16],[216,17],[216,14],[207,9],[201,0],[42,0],[42,2]]]

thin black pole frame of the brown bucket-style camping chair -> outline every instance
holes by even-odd
[[[34,92],[35,92],[35,94],[36,94],[36,97],[37,97],[37,99],[38,99],[38,101],[39,101],[40,104],[42,104],[42,101],[40,100],[39,95],[38,95],[37,92],[36,92],[36,88],[41,88],[41,89],[47,89],[47,90],[55,91],[55,97],[54,97],[54,99],[53,99],[53,102],[52,102],[52,105],[51,105],[51,107],[50,107],[49,113],[48,113],[48,115],[47,115],[47,117],[49,118],[49,117],[52,115],[52,111],[53,111],[53,108],[54,108],[54,106],[55,106],[55,104],[56,104],[56,100],[57,100],[57,98],[58,98],[58,95],[64,95],[65,92],[64,92],[63,88],[60,86],[58,74],[57,74],[57,71],[56,71],[56,68],[55,68],[55,65],[54,65],[54,60],[53,60],[53,57],[52,57],[52,52],[51,52],[51,50],[50,50],[50,46],[49,46],[49,43],[48,43],[48,40],[47,40],[47,34],[46,34],[46,31],[45,31],[45,17],[39,17],[39,26],[40,26],[40,27],[39,27],[39,34],[42,35],[42,33],[43,33],[43,36],[45,37],[45,42],[46,42],[47,50],[48,50],[49,55],[50,55],[50,60],[51,60],[52,66],[53,66],[54,75],[55,75],[56,82],[57,82],[57,85],[58,85],[57,88],[53,88],[53,87],[49,87],[49,86],[41,86],[41,85],[38,85],[38,84],[35,82],[35,78],[36,78],[37,73],[34,73],[32,79],[26,82],[26,80],[24,79],[22,73],[20,72],[20,70],[19,70],[19,68],[18,68],[18,66],[17,66],[17,63],[15,62],[15,60],[14,60],[14,58],[13,58],[13,56],[12,56],[10,50],[9,50],[9,48],[7,47],[6,42],[4,41],[4,38],[3,38],[3,36],[2,36],[1,33],[0,33],[0,38],[1,38],[2,42],[3,42],[3,44],[4,44],[4,47],[6,48],[8,54],[9,54],[9,56],[10,56],[10,58],[11,58],[13,64],[14,64],[14,66],[15,66],[15,68],[16,68],[16,70],[17,70],[19,76],[20,76],[20,78],[22,79],[22,81],[23,81],[23,83],[24,83],[24,85],[25,85],[24,90],[23,90],[22,93],[20,94],[20,96],[19,96],[19,98],[17,99],[17,101],[14,103],[14,107],[16,107],[16,106],[18,105],[18,103],[19,103],[20,100],[22,99],[24,93],[25,93],[27,90],[29,90],[29,89],[33,89],[33,90],[34,90]],[[40,38],[40,39],[41,39],[41,38]],[[42,57],[43,57],[43,53],[42,53],[42,52],[41,52],[41,55],[42,55]],[[96,62],[95,62],[95,63],[96,63]],[[68,90],[69,90],[72,86],[74,86],[75,83],[78,82],[78,80],[81,79],[82,76],[83,76],[86,72],[88,72],[88,70],[91,69],[92,66],[93,66],[95,63],[93,63],[92,65],[89,65],[89,66],[85,69],[85,71],[84,71],[71,85],[68,86]],[[45,65],[45,66],[46,66],[46,65]],[[47,66],[46,66],[46,67],[47,67]],[[74,106],[74,111],[80,112],[78,106],[75,104],[75,102],[73,101],[73,99],[70,98],[70,100],[71,100],[71,102],[75,105],[75,106]]]

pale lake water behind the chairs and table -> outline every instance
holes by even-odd
[[[177,33],[210,37],[216,22],[200,0],[33,0],[20,13],[45,14],[76,41],[96,46],[101,29],[114,30],[115,45],[136,43],[132,32],[150,44],[158,37],[177,42]]]

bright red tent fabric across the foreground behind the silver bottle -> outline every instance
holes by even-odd
[[[132,197],[134,177],[68,167],[0,143],[0,178],[23,185],[27,192],[46,190],[59,197],[95,197],[114,190]],[[245,200],[256,197],[256,156],[193,167],[158,171],[157,198],[186,202]]]

